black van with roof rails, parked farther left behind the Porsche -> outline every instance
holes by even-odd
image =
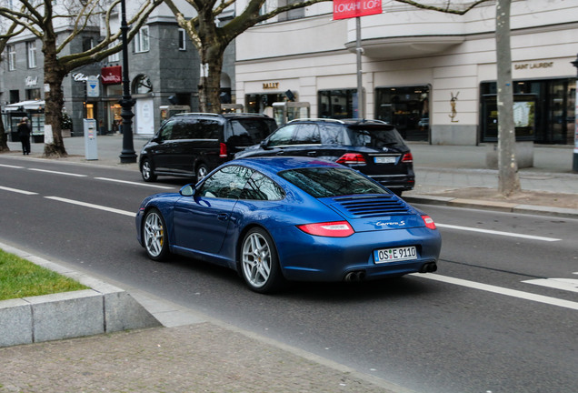
[[[246,146],[261,142],[277,124],[258,114],[185,113],[172,116],[143,146],[139,159],[147,182],[156,176],[196,176],[233,159]]]

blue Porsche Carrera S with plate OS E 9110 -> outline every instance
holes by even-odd
[[[433,219],[334,162],[239,159],[196,186],[145,198],[136,233],[148,257],[178,254],[238,271],[256,292],[285,280],[359,281],[435,271]]]

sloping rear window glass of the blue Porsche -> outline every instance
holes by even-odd
[[[347,168],[299,168],[283,171],[279,176],[314,197],[388,193],[382,186]]]

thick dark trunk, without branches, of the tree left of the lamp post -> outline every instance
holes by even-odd
[[[62,110],[65,106],[65,95],[62,83],[66,72],[56,57],[55,38],[45,36],[42,51],[45,55],[45,84],[49,91],[45,93],[45,124],[52,126],[52,143],[45,143],[45,156],[68,156],[62,139]]]

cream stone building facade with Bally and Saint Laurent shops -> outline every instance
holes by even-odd
[[[408,140],[495,141],[495,4],[479,5],[466,15],[396,2],[384,2],[383,9],[381,15],[360,18],[364,117],[393,123]],[[334,20],[332,13],[331,2],[321,3],[240,35],[237,102],[264,112],[289,92],[310,103],[311,116],[356,117],[356,21]],[[575,15],[578,5],[563,0],[512,2],[519,140],[573,143]]]

